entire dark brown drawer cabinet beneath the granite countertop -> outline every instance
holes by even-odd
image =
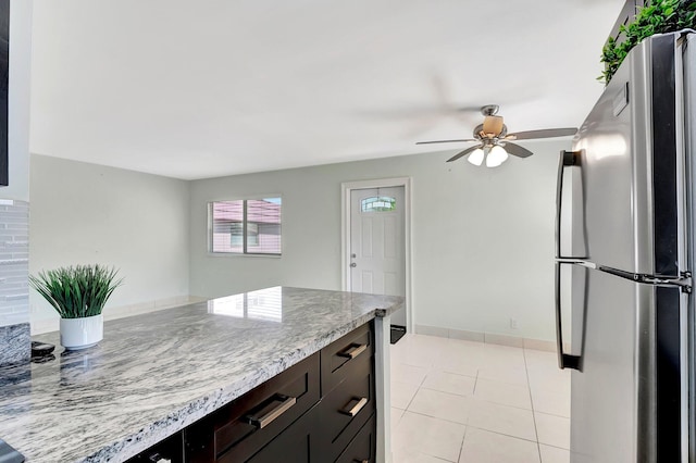
[[[372,326],[355,329],[129,462],[374,462]]]

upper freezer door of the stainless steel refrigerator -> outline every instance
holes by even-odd
[[[675,130],[674,36],[657,36],[629,54],[573,142],[584,202],[573,229],[587,252],[580,258],[678,275]]]

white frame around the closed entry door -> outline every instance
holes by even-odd
[[[350,291],[350,272],[348,265],[350,263],[350,192],[352,190],[362,190],[368,188],[387,188],[403,187],[403,258],[405,265],[403,275],[405,285],[405,310],[406,310],[406,329],[413,333],[413,316],[411,313],[411,259],[413,255],[411,248],[412,223],[411,223],[411,177],[380,178],[374,180],[345,182],[340,184],[340,203],[341,203],[341,222],[340,227],[340,275],[343,281],[343,290]]]

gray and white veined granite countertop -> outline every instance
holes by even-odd
[[[83,351],[41,335],[55,360],[0,368],[0,438],[30,463],[121,462],[401,306],[276,287],[105,322]]]

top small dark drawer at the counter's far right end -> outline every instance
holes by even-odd
[[[321,350],[322,397],[346,379],[352,363],[374,355],[371,328],[372,322],[366,323]]]

